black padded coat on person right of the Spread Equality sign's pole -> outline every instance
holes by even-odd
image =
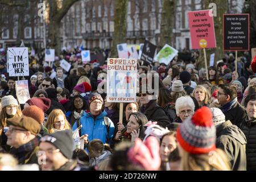
[[[148,121],[157,121],[159,126],[166,127],[171,123],[166,111],[156,101],[151,100],[151,104],[146,107],[146,110],[142,110],[141,113],[145,114]]]

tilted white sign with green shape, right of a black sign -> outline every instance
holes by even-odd
[[[174,59],[178,52],[179,51],[177,51],[175,48],[166,44],[155,56],[155,60],[159,63],[164,63],[168,65],[172,61],[172,59]]]

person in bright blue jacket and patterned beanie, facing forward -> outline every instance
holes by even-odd
[[[114,123],[106,117],[107,113],[102,106],[104,101],[100,94],[89,95],[89,112],[85,113],[81,119],[81,139],[84,144],[88,144],[93,139],[100,139],[103,143],[110,143],[114,135]],[[77,129],[77,123],[73,125],[73,131]]]

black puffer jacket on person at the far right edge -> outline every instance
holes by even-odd
[[[247,139],[246,160],[247,170],[256,171],[256,119],[248,121],[243,120],[240,126]]]

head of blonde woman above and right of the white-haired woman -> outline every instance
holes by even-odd
[[[200,107],[209,106],[210,94],[203,85],[197,85],[192,93],[192,96],[196,98]]]

